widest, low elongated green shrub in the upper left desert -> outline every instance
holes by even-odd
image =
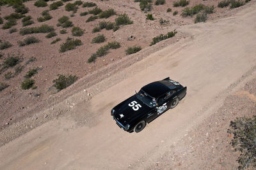
[[[54,28],[52,26],[43,24],[40,27],[29,27],[29,28],[20,29],[20,35],[24,36],[26,34],[47,33],[51,31],[54,31]]]

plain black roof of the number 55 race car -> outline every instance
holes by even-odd
[[[148,85],[145,85],[141,89],[146,92],[149,96],[158,98],[161,95],[170,92],[170,90],[175,89],[175,85],[170,83],[169,81],[166,80],[161,80],[161,81],[154,81],[153,83],[149,83]]]

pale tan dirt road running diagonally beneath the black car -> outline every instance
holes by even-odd
[[[170,45],[114,74],[111,88],[70,109],[70,117],[48,122],[0,148],[0,169],[127,169],[147,157],[153,163],[164,146],[217,109],[232,83],[256,65],[255,5],[216,22],[185,25],[191,37]],[[188,86],[177,108],[166,111],[138,134],[122,131],[110,110],[151,81],[170,76]],[[74,96],[79,94],[75,94]],[[73,97],[74,97],[73,96]],[[57,107],[57,106],[56,106]],[[77,127],[74,117],[88,121]]]

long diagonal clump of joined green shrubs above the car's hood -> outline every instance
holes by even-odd
[[[87,62],[95,62],[97,57],[102,57],[106,55],[109,49],[117,49],[120,48],[120,43],[113,41],[109,42],[107,45],[101,46],[96,53],[93,53],[91,57],[87,60]]]

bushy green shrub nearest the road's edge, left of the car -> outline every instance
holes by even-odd
[[[65,76],[62,74],[58,75],[59,77],[55,80],[52,81],[52,83],[54,83],[54,87],[56,87],[56,89],[58,91],[66,89],[68,86],[72,85],[74,82],[77,81],[77,76]]]

